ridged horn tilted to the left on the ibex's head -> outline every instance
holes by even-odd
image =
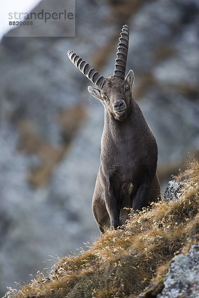
[[[68,57],[73,62],[73,64],[84,74],[86,75],[98,88],[102,88],[102,85],[105,81],[103,75],[96,72],[85,60],[82,60],[76,53],[69,50]]]

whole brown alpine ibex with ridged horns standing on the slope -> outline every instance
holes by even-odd
[[[69,59],[99,88],[88,87],[104,106],[101,163],[93,196],[100,232],[125,223],[129,210],[147,207],[160,196],[156,174],[158,149],[146,120],[131,95],[134,73],[125,77],[128,26],[120,33],[114,74],[104,78],[73,51]],[[125,78],[124,78],[125,77]]]

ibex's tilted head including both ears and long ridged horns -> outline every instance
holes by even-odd
[[[68,51],[69,59],[98,87],[89,86],[89,92],[94,97],[100,99],[112,117],[122,122],[128,114],[134,81],[134,73],[131,70],[125,77],[128,38],[128,26],[124,25],[120,33],[114,73],[107,78],[104,78],[94,68],[91,68],[86,61],[82,60],[73,51]]]

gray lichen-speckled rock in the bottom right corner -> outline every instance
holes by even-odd
[[[164,278],[164,289],[157,298],[199,298],[199,244],[191,246],[186,255],[172,259]]]

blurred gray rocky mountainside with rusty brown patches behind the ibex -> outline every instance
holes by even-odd
[[[64,7],[64,0],[59,2]],[[198,0],[76,0],[76,37],[3,38],[2,295],[14,281],[27,281],[29,274],[51,266],[43,261],[76,251],[99,234],[91,202],[103,107],[88,93],[92,83],[67,51],[112,75],[126,23],[127,71],[134,70],[134,97],[158,143],[162,191],[171,174],[184,168],[188,152],[199,155]]]

